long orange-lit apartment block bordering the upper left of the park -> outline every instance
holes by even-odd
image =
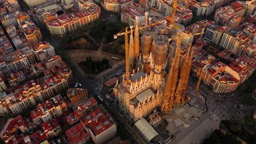
[[[85,26],[87,23],[98,19],[101,8],[93,3],[88,9],[73,13],[71,15],[63,15],[55,21],[46,23],[50,33],[57,37],[63,37]]]

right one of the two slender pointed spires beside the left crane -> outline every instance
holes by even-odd
[[[136,16],[136,27],[135,27],[135,36],[134,36],[134,56],[135,56],[135,65],[138,64],[139,58],[139,31],[138,31],[138,19],[139,17]]]

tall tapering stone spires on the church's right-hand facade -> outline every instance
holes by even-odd
[[[177,47],[181,44],[181,39],[177,39]],[[181,68],[179,68],[179,53],[180,50],[176,49],[176,53],[172,62],[170,72],[167,76],[167,81],[164,89],[164,97],[161,105],[161,112],[169,113],[174,105],[184,104],[190,98],[185,95],[185,88],[187,87],[190,67],[193,57],[193,50],[190,51],[191,44],[189,45],[187,56]],[[179,69],[181,69],[179,71]]]

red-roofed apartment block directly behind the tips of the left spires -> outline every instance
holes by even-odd
[[[141,5],[137,3],[130,3],[126,8],[121,11],[121,21],[130,26],[136,25],[136,16],[138,16],[138,23],[144,23],[146,15],[142,12]]]

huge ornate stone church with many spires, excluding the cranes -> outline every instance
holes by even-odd
[[[175,25],[172,35],[177,36],[183,26]],[[131,26],[129,55],[126,55],[129,58],[129,62],[126,61],[126,76],[117,81],[113,91],[117,95],[120,109],[136,122],[147,117],[156,108],[162,113],[170,113],[174,106],[184,105],[190,99],[185,95],[185,89],[193,49],[190,44],[181,63],[181,39],[172,40],[170,44],[170,32],[165,25],[161,24],[157,32],[144,29],[141,40],[138,22],[135,29],[132,28]],[[126,35],[126,40],[127,37]]]

